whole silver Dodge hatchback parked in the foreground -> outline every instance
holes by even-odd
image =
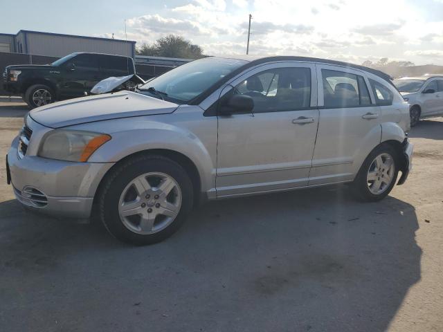
[[[204,199],[406,181],[409,107],[390,77],[309,57],[210,57],[120,91],[30,111],[7,158],[33,210],[162,241]],[[397,175],[401,177],[397,181]]]

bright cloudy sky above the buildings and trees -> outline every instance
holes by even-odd
[[[443,65],[443,0],[0,0],[0,8],[19,12],[2,15],[0,33],[114,33],[138,45],[174,33],[206,55],[245,54],[251,13],[250,54]]]

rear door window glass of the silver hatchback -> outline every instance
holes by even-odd
[[[368,86],[363,76],[322,69],[325,108],[370,106]]]

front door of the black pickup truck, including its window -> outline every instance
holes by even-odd
[[[60,95],[63,99],[84,96],[100,80],[97,54],[79,54],[63,65]]]

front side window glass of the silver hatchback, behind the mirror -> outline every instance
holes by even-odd
[[[235,86],[233,93],[250,96],[254,113],[307,109],[311,106],[311,70],[292,67],[263,71]]]

